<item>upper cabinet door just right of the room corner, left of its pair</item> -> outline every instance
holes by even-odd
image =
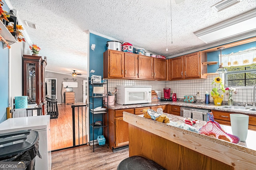
[[[171,66],[171,75],[172,79],[180,79],[183,78],[183,58],[175,57],[171,59],[172,66]]]

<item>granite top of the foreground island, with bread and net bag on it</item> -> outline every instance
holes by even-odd
[[[129,114],[129,116],[136,117],[138,119],[148,121],[149,123],[155,123],[155,124],[160,125],[160,126],[168,127],[169,129],[180,131],[180,132],[186,133],[188,135],[193,135],[195,137],[199,137],[199,138],[204,139],[206,141],[211,141],[211,142],[214,142],[216,144],[224,145],[226,147],[236,149],[236,150],[240,150],[242,152],[246,152],[248,154],[252,154],[252,155],[256,156],[256,145],[254,145],[254,143],[256,141],[256,131],[248,130],[248,136],[247,136],[246,141],[245,142],[240,142],[238,144],[234,144],[234,143],[227,142],[227,141],[224,141],[224,140],[216,139],[214,137],[209,137],[209,136],[202,135],[202,134],[199,134],[199,133],[195,133],[195,132],[192,132],[192,131],[184,130],[184,129],[181,129],[181,128],[178,128],[178,127],[173,127],[171,125],[161,123],[161,122],[158,122],[158,121],[154,121],[152,119],[147,119],[147,118],[143,117],[143,115],[134,115],[134,114],[124,112],[124,117],[126,116],[126,114]],[[176,115],[172,115],[172,114],[168,114],[168,113],[164,113],[164,114],[167,115],[167,117],[170,119],[170,121],[184,122],[183,121],[184,117],[176,116]],[[196,129],[200,129],[200,127],[202,127],[205,123],[206,123],[205,121],[198,121],[198,123],[193,125],[193,127],[195,127]],[[227,133],[232,134],[230,126],[221,125],[221,127]]]

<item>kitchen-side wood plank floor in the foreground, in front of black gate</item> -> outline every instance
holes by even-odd
[[[52,170],[116,170],[118,164],[129,157],[129,149],[112,152],[107,147],[95,149],[84,145],[52,152]]]

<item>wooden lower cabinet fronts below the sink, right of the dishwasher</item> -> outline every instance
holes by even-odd
[[[214,115],[214,120],[222,125],[231,125],[230,123],[230,114],[234,112],[227,112],[227,111],[216,111],[212,110],[212,114]],[[249,125],[248,129],[256,130],[256,117],[249,115]]]

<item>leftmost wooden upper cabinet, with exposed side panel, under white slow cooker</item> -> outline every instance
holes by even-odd
[[[104,78],[124,77],[124,52],[107,50],[104,52]]]

